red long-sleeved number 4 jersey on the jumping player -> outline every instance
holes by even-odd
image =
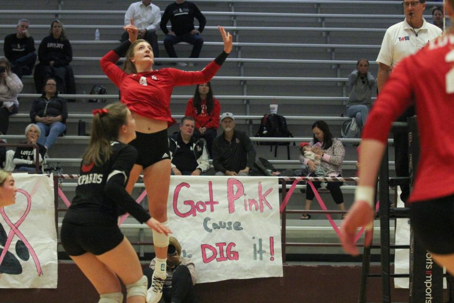
[[[176,123],[170,111],[172,90],[179,85],[206,83],[220,66],[214,61],[202,71],[187,72],[175,68],[162,68],[151,72],[127,74],[116,63],[117,53],[110,51],[101,58],[102,71],[120,89],[120,101],[131,111],[148,118]]]

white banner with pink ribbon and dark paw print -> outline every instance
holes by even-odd
[[[0,288],[56,288],[53,176],[13,176],[16,204],[0,210]]]

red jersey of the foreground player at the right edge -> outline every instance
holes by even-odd
[[[454,34],[429,43],[392,71],[367,118],[363,139],[386,142],[392,121],[415,105],[420,160],[409,201],[454,193]]]

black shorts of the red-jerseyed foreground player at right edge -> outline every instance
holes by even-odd
[[[454,253],[454,195],[410,204],[410,223],[427,250]]]

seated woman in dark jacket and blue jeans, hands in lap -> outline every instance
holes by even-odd
[[[36,123],[41,130],[38,143],[46,149],[55,143],[55,140],[66,130],[68,108],[66,100],[58,96],[56,81],[47,79],[42,95],[33,100],[30,110],[32,123]]]

